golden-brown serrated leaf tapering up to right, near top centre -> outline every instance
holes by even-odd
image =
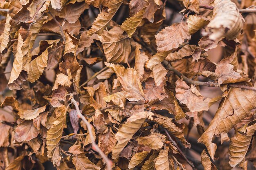
[[[126,31],[128,34],[128,37],[132,37],[132,35],[135,33],[137,27],[142,21],[143,15],[145,13],[145,8],[143,8],[141,11],[136,13],[130,18],[127,18],[121,25],[121,28]]]

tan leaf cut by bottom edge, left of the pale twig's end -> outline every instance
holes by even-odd
[[[100,170],[101,168],[97,165],[94,165],[88,157],[85,156],[74,156],[73,164],[76,167],[76,170]]]

